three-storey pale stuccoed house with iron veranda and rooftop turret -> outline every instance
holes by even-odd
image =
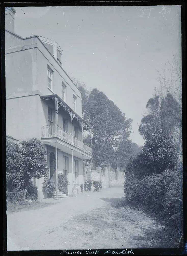
[[[62,68],[59,44],[42,36],[22,38],[14,33],[14,7],[5,7],[6,134],[39,138],[47,150],[48,177],[64,173],[69,194],[81,192],[83,159],[92,159],[83,131],[81,91]],[[43,179],[35,179],[38,199],[44,197]],[[58,196],[58,189],[56,189]]]

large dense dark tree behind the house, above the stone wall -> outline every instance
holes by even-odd
[[[114,158],[120,140],[127,139],[131,130],[131,119],[98,89],[93,89],[84,107],[84,118],[92,127],[92,152],[96,165]]]

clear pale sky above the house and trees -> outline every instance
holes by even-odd
[[[181,61],[181,6],[15,7],[15,33],[44,36],[63,50],[63,69],[98,88],[132,121],[138,132],[146,103],[159,87],[173,55]]]

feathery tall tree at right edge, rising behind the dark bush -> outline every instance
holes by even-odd
[[[144,140],[150,140],[158,129],[171,138],[178,154],[182,152],[182,116],[178,102],[170,93],[166,97],[149,99],[146,108],[148,115],[144,116],[139,126],[139,132]]]

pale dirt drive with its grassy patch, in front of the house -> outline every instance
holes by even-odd
[[[122,201],[119,185],[8,214],[7,250],[146,247],[147,233],[158,227]]]

